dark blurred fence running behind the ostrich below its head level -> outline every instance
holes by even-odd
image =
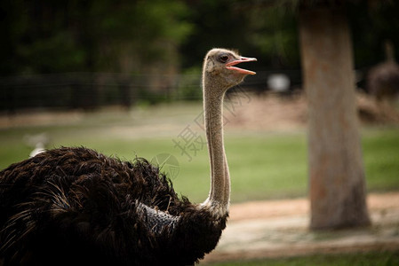
[[[269,90],[272,74],[290,79],[288,90],[300,88],[297,70],[263,71],[247,77],[243,90],[262,93]],[[0,78],[0,111],[21,109],[84,109],[100,106],[130,107],[137,102],[198,100],[202,98],[199,74],[127,75],[104,73],[36,74]]]

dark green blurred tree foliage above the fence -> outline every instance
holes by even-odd
[[[299,68],[299,5],[299,0],[4,0],[0,75],[176,74],[180,66],[199,67],[203,54],[217,46],[258,57],[261,69]],[[399,46],[397,2],[346,6],[356,66],[384,59],[386,39]]]

